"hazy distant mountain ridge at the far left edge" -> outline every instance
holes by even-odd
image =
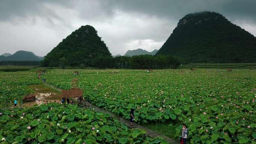
[[[44,57],[37,56],[33,52],[27,52],[24,50],[19,50],[13,55],[7,53],[8,56],[4,56],[6,53],[0,56],[0,61],[41,61]]]

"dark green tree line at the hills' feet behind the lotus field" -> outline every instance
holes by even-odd
[[[65,68],[69,65],[68,60],[60,58],[60,67]],[[80,68],[129,68],[129,69],[164,69],[177,68],[180,62],[170,55],[136,55],[136,56],[98,56],[85,60],[82,64],[77,65]]]

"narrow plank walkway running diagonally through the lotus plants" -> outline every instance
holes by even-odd
[[[59,89],[59,88],[57,88],[57,87],[55,87],[55,86],[52,86],[52,85],[50,85],[49,83],[45,83],[45,85],[50,86],[51,88],[54,88],[54,89],[56,89],[56,90],[58,90],[58,91],[61,91],[61,89]],[[110,116],[112,116],[113,118],[119,120],[119,122],[123,123],[124,125],[128,126],[128,127],[131,128],[131,129],[144,129],[144,130],[146,131],[146,135],[149,136],[149,137],[151,137],[151,138],[162,137],[162,138],[164,138],[164,139],[165,139],[168,143],[170,143],[170,144],[179,144],[179,142],[174,141],[173,139],[171,139],[171,138],[169,138],[169,137],[166,137],[166,136],[163,135],[163,134],[159,134],[158,132],[155,132],[155,131],[152,131],[151,129],[148,129],[148,128],[146,128],[146,127],[143,127],[143,126],[139,125],[138,123],[135,123],[135,122],[134,122],[134,125],[131,126],[130,120],[127,120],[127,119],[124,119],[124,118],[122,118],[122,117],[119,117],[119,116],[117,116],[116,114],[114,114],[114,113],[112,113],[112,112],[110,112],[110,111],[104,110],[103,108],[99,108],[99,107],[97,107],[96,105],[93,105],[93,104],[91,104],[91,103],[89,103],[89,102],[85,102],[85,104],[86,104],[87,107],[92,108],[92,109],[94,109],[95,111],[100,111],[100,112],[102,112],[102,113],[110,114]]]

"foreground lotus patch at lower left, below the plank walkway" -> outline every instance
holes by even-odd
[[[141,129],[128,129],[109,114],[50,103],[24,110],[1,111],[1,144],[165,144]]]

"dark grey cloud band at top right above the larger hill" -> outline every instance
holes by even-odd
[[[111,9],[181,19],[188,13],[214,11],[231,19],[256,21],[256,0],[117,0]]]

